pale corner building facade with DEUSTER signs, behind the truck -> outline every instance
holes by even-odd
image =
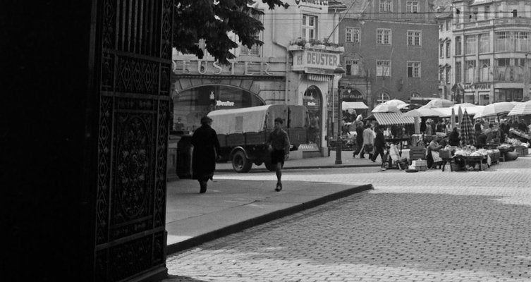
[[[264,104],[307,106],[312,134],[307,152],[325,152],[327,101],[340,62],[338,11],[334,1],[288,0],[287,8],[263,11],[257,18],[264,24],[262,46],[233,49],[236,59],[228,66],[212,56],[203,59],[189,54],[173,54],[173,124],[175,130],[192,133],[200,118],[214,109],[238,109]],[[236,35],[230,35],[239,42]],[[205,42],[198,42],[205,48]],[[300,157],[300,156],[293,156]]]

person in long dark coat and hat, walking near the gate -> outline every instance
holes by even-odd
[[[219,156],[219,140],[216,130],[212,129],[212,118],[201,118],[201,127],[192,135],[194,147],[192,156],[193,179],[200,184],[200,193],[207,192],[207,182],[212,180],[216,170],[216,158]]]

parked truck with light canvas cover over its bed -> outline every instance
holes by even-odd
[[[267,137],[274,129],[274,119],[283,119],[283,129],[288,133],[291,148],[308,142],[308,112],[305,106],[276,104],[252,106],[242,109],[211,111],[208,116],[214,121],[221,147],[221,159],[231,161],[235,171],[250,171],[252,164],[264,164],[269,171],[271,165],[267,150]]]

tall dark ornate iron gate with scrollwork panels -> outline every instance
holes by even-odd
[[[97,1],[94,281],[166,274],[172,0]]]

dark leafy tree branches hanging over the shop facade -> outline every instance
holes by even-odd
[[[273,9],[288,7],[282,0],[257,0]],[[228,63],[234,59],[231,49],[238,47],[228,37],[228,32],[238,35],[241,44],[251,48],[264,42],[255,35],[264,30],[264,25],[252,17],[263,14],[252,8],[252,0],[176,0],[173,18],[173,47],[185,54],[195,54],[202,59],[203,51],[197,45],[205,39],[206,49],[216,61]],[[249,4],[249,5],[248,5]]]

